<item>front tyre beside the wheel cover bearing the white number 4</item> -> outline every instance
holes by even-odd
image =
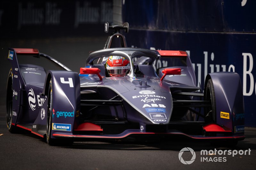
[[[60,139],[53,139],[52,135],[52,79],[49,83],[48,88],[48,104],[47,104],[47,125],[46,125],[46,141],[49,145],[63,145],[69,146],[73,144],[73,140],[60,140]]]

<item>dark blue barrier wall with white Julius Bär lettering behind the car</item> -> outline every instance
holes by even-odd
[[[187,51],[198,85],[204,85],[207,73],[237,72],[243,85],[245,125],[256,127],[255,6],[252,0],[125,1],[123,21],[130,25],[127,43]]]

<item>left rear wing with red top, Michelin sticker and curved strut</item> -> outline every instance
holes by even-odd
[[[20,70],[17,55],[31,55],[31,56],[37,57],[37,58],[44,57],[47,60],[50,60],[57,67],[67,70],[67,71],[71,71],[64,64],[60,63],[59,61],[55,60],[54,58],[50,57],[49,55],[39,53],[38,49],[36,49],[36,48],[8,48],[8,49],[9,49],[8,60],[11,62],[12,68],[16,68],[17,70]]]

